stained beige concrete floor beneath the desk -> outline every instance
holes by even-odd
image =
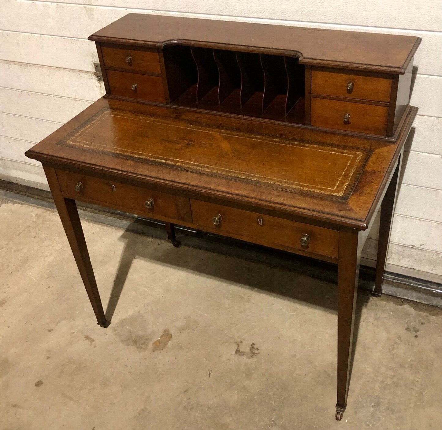
[[[334,284],[85,220],[103,329],[47,206],[0,197],[1,429],[441,429],[441,309],[359,294],[336,422]]]

